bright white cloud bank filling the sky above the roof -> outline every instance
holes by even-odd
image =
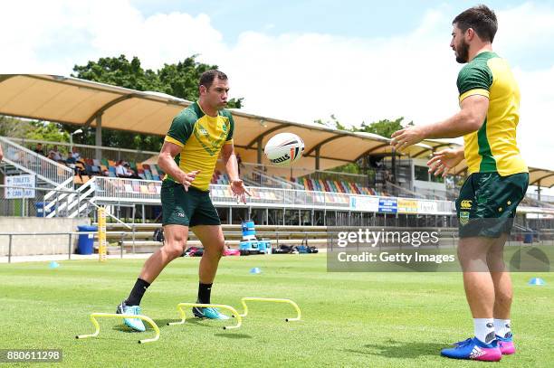
[[[495,49],[509,61],[520,62],[523,52],[551,50],[551,7],[529,3],[497,14]],[[304,122],[335,114],[349,125],[404,116],[417,124],[457,109],[461,65],[449,48],[452,18],[445,8],[432,10],[413,32],[390,38],[245,31],[225,44],[221,27],[205,14],[145,17],[128,1],[7,2],[0,71],[68,75],[74,64],[121,53],[157,69],[199,53],[200,61],[230,75],[232,93],[244,97],[247,111]],[[513,64],[522,96],[519,140],[531,165],[554,168],[545,155],[551,138],[537,134],[551,131],[552,124],[554,61],[545,63],[535,70]]]

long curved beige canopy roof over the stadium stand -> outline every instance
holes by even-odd
[[[159,92],[129,90],[72,77],[37,74],[0,75],[0,114],[72,124],[120,129],[164,136],[173,117],[192,102]],[[291,132],[304,140],[300,165],[320,169],[344,165],[365,154],[392,152],[390,139],[369,133],[352,133],[315,123],[298,123],[232,109],[238,134],[234,145],[245,162],[258,162],[263,147],[275,133]],[[100,120],[101,117],[101,120]],[[97,118],[99,118],[97,120]],[[405,153],[430,152],[419,144]]]

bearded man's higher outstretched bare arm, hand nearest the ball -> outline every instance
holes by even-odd
[[[391,146],[401,150],[428,138],[454,138],[473,133],[482,127],[489,109],[489,99],[482,95],[472,95],[463,99],[460,107],[460,111],[451,118],[396,131],[392,135]]]

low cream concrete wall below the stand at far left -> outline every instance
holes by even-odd
[[[0,216],[0,233],[17,232],[62,232],[63,235],[14,235],[12,238],[13,256],[35,254],[67,254],[69,232],[77,231],[77,225],[90,225],[91,219],[43,219],[38,217]],[[77,248],[78,235],[72,236],[72,252]],[[0,256],[7,256],[9,237],[0,235]]]

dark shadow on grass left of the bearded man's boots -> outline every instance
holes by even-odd
[[[378,355],[387,358],[418,358],[420,356],[440,355],[447,344],[414,343],[388,340],[387,344],[366,344],[365,349],[345,349],[346,352],[365,355]]]

